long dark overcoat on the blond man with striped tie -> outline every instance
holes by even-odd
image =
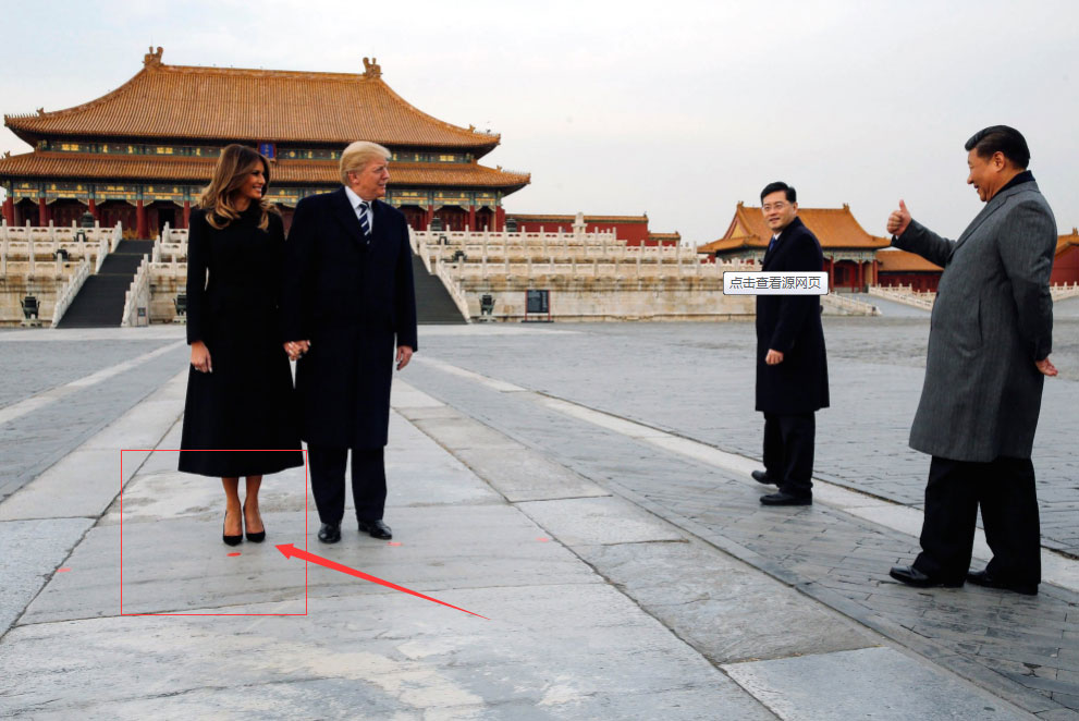
[[[395,345],[416,344],[408,225],[376,200],[366,242],[344,187],[296,206],[282,293],[285,341],[309,340],[296,366],[301,433],[309,443],[387,443]]]

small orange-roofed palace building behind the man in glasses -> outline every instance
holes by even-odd
[[[886,237],[870,235],[858,224],[846,203],[842,208],[798,208],[798,217],[821,243],[829,288],[863,290],[878,284],[880,265],[876,252],[891,244]],[[718,241],[697,247],[697,253],[718,261],[760,262],[772,240],[760,207],[739,203],[726,233]]]

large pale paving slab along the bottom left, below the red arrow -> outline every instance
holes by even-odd
[[[492,620],[381,594],[323,599],[308,618],[20,626],[0,645],[0,704],[7,718],[134,718],[151,702],[156,718],[222,718],[219,709],[246,718],[775,718],[609,586],[443,595],[494,609]]]

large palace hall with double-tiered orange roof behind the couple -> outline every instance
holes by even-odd
[[[0,158],[9,225],[70,225],[89,212],[135,237],[187,227],[193,205],[230,143],[270,158],[270,197],[285,221],[296,203],[341,185],[338,161],[356,139],[392,151],[385,200],[415,229],[503,230],[503,199],[528,173],[479,159],[500,136],[424,113],[382,81],[375,59],[363,74],[167,65],[152,48],[143,69],[84,105],[4,115],[33,146]]]

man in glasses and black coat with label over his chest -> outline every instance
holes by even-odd
[[[798,196],[786,183],[761,191],[772,241],[761,262],[768,272],[820,271],[824,256],[798,218]],[[764,505],[813,502],[813,414],[826,408],[827,358],[817,295],[757,296],[757,410],[764,414],[764,471],[753,478],[778,487]]]

